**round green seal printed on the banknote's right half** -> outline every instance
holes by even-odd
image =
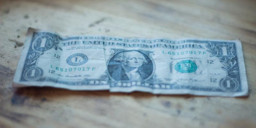
[[[191,60],[182,60],[175,65],[175,70],[180,73],[191,73],[197,69],[196,63]]]

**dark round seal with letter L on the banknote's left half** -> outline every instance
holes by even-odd
[[[79,66],[88,61],[88,57],[83,53],[75,53],[68,57],[66,60],[68,65]]]

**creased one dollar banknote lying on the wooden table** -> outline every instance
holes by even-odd
[[[61,37],[29,28],[14,86],[245,96],[239,40]]]

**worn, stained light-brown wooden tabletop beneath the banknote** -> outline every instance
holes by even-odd
[[[249,96],[13,88],[28,27],[62,36],[239,38]],[[255,128],[256,1],[1,0],[0,127]]]

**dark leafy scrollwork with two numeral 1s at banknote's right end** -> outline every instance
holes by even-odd
[[[210,57],[217,57],[223,65],[221,68],[226,71],[227,76],[219,81],[219,86],[223,91],[235,92],[240,89],[239,67],[236,56],[236,45],[230,42],[208,42],[206,44],[207,52]]]

